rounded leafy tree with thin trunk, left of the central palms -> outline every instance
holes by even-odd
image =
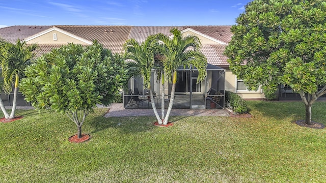
[[[109,105],[127,80],[124,58],[104,49],[97,41],[82,46],[69,43],[39,57],[21,80],[25,100],[39,109],[66,113],[82,125],[96,104]]]

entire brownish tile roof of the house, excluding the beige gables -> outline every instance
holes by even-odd
[[[30,26],[16,25],[0,28],[0,37],[7,41],[15,43],[19,38],[21,40],[45,31],[53,26]],[[228,43],[231,41],[231,26],[91,26],[91,25],[55,25],[66,32],[74,34],[80,38],[92,41],[97,40],[105,48],[113,52],[123,52],[123,44],[127,39],[134,38],[139,43],[145,41],[150,35],[162,33],[170,36],[170,29],[177,28],[180,31],[186,28],[192,28],[197,32],[210,36],[216,40]],[[48,52],[51,48],[57,48],[60,45],[39,45],[36,51],[37,56]],[[217,66],[227,66],[227,57],[223,55],[225,45],[202,45],[202,52],[206,55],[209,64]]]

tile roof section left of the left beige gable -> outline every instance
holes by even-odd
[[[52,26],[47,25],[15,25],[0,28],[0,37],[11,43],[16,43],[17,39],[23,40],[42,32]]]

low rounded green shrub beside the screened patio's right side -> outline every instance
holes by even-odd
[[[225,91],[225,105],[236,114],[248,112],[247,102],[233,92]]]

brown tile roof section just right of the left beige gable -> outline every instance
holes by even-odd
[[[121,53],[132,26],[56,25],[56,27],[89,41],[97,40],[104,48]]]

